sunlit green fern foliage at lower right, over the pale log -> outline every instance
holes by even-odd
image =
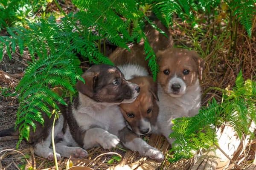
[[[169,161],[191,158],[200,149],[213,150],[218,145],[216,127],[228,122],[239,138],[250,135],[251,122],[256,123],[256,82],[244,82],[240,71],[233,90],[219,89],[223,92],[223,102],[218,104],[213,98],[207,107],[202,107],[194,117],[183,117],[173,121],[170,138],[175,139],[174,155]]]

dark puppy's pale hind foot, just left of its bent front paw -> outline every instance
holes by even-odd
[[[87,151],[81,147],[69,147],[68,143],[65,141],[58,142],[56,144],[56,151],[61,154],[61,156],[69,158],[70,156],[74,158],[84,158],[88,155]]]

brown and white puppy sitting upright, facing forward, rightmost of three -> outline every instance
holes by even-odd
[[[201,106],[204,61],[195,51],[169,48],[157,52],[160,71],[157,75],[159,114],[154,132],[163,134],[169,143],[172,120],[195,116]]]

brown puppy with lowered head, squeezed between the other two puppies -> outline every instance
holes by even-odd
[[[127,127],[138,135],[151,133],[151,126],[155,126],[158,115],[157,83],[140,65],[125,64],[117,67],[125,78],[140,86],[140,94],[134,102],[119,105]]]

